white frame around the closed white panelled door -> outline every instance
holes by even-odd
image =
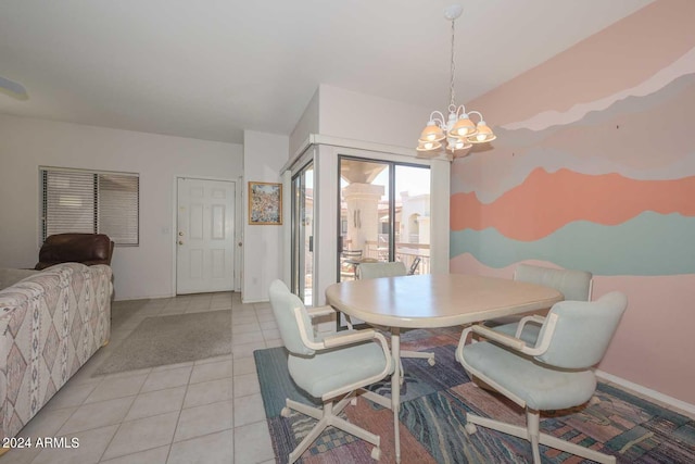
[[[243,243],[243,199],[241,198],[241,186],[243,185],[243,178],[239,176],[238,178],[225,178],[225,177],[208,177],[208,176],[197,176],[197,175],[185,175],[177,174],[173,179],[173,188],[172,188],[172,225],[170,225],[170,234],[167,234],[169,230],[166,228],[162,229],[163,234],[167,234],[172,238],[172,297],[176,297],[177,293],[177,279],[176,273],[178,268],[178,253],[177,253],[177,235],[176,230],[178,228],[178,179],[195,179],[195,180],[214,180],[214,181],[225,181],[231,183],[235,185],[235,236],[233,236],[233,247],[235,247],[235,277],[232,291],[241,291],[241,271],[243,265],[243,247],[240,247],[239,243]]]

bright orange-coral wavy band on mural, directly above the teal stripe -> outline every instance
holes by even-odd
[[[481,204],[475,192],[452,196],[451,227],[494,227],[505,237],[529,241],[574,221],[616,225],[644,211],[695,216],[694,198],[695,176],[633,180],[620,174],[587,176],[568,170],[547,173],[539,167],[491,204]],[[538,208],[539,203],[543,208]]]

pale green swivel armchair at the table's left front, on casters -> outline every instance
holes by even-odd
[[[387,339],[374,329],[315,336],[311,317],[333,313],[333,309],[324,306],[307,311],[302,300],[291,293],[281,280],[270,284],[269,298],[282,342],[289,352],[290,377],[306,393],[324,402],[320,410],[286,400],[286,407],[281,411],[283,417],[289,417],[290,410],[294,410],[318,421],[290,453],[289,462],[299,460],[329,426],[374,444],[371,457],[378,461],[380,437],[349,423],[339,414],[348,404],[356,404],[358,394],[391,409],[389,399],[364,389],[393,372]],[[339,401],[334,403],[337,399]]]

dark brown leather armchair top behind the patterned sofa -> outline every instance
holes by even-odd
[[[41,251],[37,271],[60,263],[83,263],[111,265],[113,241],[104,234],[55,234],[49,236]]]

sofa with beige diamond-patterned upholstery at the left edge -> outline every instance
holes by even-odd
[[[0,437],[14,437],[111,331],[110,266],[15,274],[23,279],[0,289]]]

